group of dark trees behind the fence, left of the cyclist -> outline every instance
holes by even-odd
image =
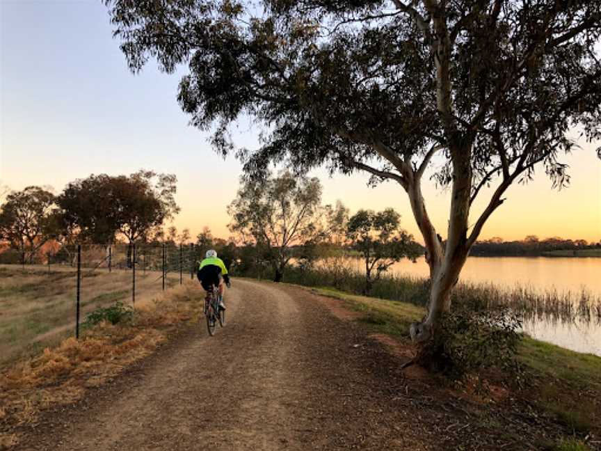
[[[40,262],[49,242],[70,260],[75,244],[187,241],[186,230],[179,237],[175,228],[163,230],[179,212],[176,183],[173,174],[141,170],[90,175],[68,183],[58,195],[37,186],[10,191],[0,205],[0,261]]]

